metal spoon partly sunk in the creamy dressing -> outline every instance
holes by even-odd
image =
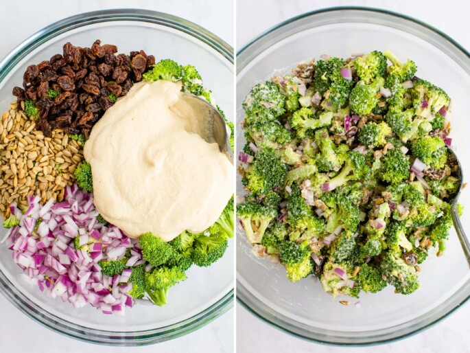
[[[181,97],[186,104],[196,113],[198,119],[207,124],[210,130],[209,136],[202,136],[209,143],[217,142],[220,152],[225,153],[233,164],[233,152],[230,148],[230,128],[225,123],[224,117],[207,100],[197,95],[184,93]]]

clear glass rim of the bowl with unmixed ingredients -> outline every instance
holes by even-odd
[[[182,19],[178,16],[165,14],[150,10],[140,9],[113,9],[101,10],[94,12],[84,12],[75,16],[62,19],[56,23],[43,28],[36,34],[27,38],[23,43],[18,45],[0,62],[0,81],[3,80],[8,73],[22,60],[27,54],[32,52],[40,45],[43,45],[51,38],[59,36],[70,30],[95,23],[104,23],[110,21],[137,21],[145,23],[154,23],[165,27],[178,30],[198,41],[209,45],[220,55],[233,65],[234,56],[233,48],[222,41],[221,38],[215,36],[204,28]],[[34,319],[41,325],[54,330],[67,337],[96,343],[101,345],[131,346],[131,345],[148,345],[181,337],[185,334],[198,330],[207,323],[213,321],[229,308],[233,306],[233,288],[228,291],[213,305],[199,312],[193,317],[189,317],[178,323],[174,323],[162,328],[153,330],[141,330],[136,332],[109,332],[106,330],[89,329],[85,326],[76,325],[70,321],[61,319],[56,315],[52,315],[40,306],[32,303],[23,293],[15,288],[8,278],[0,271],[0,293],[2,293],[16,308],[19,308],[25,315]]]

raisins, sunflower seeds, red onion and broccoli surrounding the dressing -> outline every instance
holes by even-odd
[[[186,279],[192,264],[209,266],[222,258],[234,226],[230,195],[210,227],[196,234],[182,231],[171,242],[152,229],[139,240],[128,238],[99,214],[83,147],[117,98],[121,102],[144,78],[178,82],[183,91],[211,102],[211,91],[191,65],[169,59],[155,64],[143,51],[116,52],[114,45],[99,41],[91,49],[67,43],[63,54],[31,65],[0,125],[0,209],[3,226],[10,229],[1,242],[41,291],[106,314],[123,312],[139,299],[165,304],[169,288]],[[233,124],[227,124],[233,142]],[[119,143],[105,141],[105,148]],[[139,185],[138,180],[129,183]],[[172,190],[178,194],[178,185]]]

